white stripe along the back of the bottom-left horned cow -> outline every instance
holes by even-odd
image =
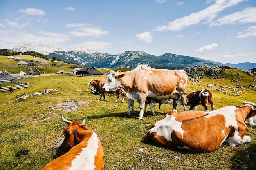
[[[76,156],[71,162],[69,170],[94,170],[95,155],[99,148],[99,140],[96,133],[92,133],[92,136],[87,142],[87,146],[82,149],[82,152]]]

